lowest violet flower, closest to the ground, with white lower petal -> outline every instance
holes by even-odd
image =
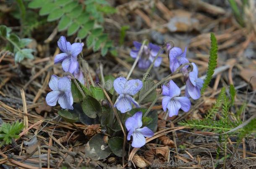
[[[125,121],[126,129],[128,130],[127,140],[131,140],[131,136],[133,136],[133,142],[131,146],[139,148],[146,144],[145,137],[154,136],[154,132],[150,130],[148,127],[142,126],[142,112],[138,111],[133,116],[129,117]]]

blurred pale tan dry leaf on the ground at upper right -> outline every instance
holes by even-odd
[[[172,10],[174,14],[167,27],[171,32],[188,32],[199,30],[199,20],[193,18],[193,14],[185,10]]]

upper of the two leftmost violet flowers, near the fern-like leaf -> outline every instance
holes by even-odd
[[[55,56],[54,64],[62,62],[62,68],[65,72],[74,73],[78,67],[77,55],[81,53],[84,43],[73,43],[71,45],[64,36],[61,36],[57,43],[63,53]]]

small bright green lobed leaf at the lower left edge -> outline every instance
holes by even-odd
[[[13,122],[10,123],[3,123],[0,127],[0,140],[3,142],[0,144],[0,147],[4,144],[10,144],[12,139],[18,139],[18,134],[24,128],[24,124],[22,122]]]

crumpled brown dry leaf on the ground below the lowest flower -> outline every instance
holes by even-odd
[[[152,164],[162,164],[167,161],[169,154],[169,147],[153,147],[150,146],[149,150],[145,151],[145,159]]]

